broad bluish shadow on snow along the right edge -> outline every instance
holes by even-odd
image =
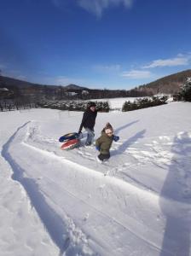
[[[171,166],[160,197],[160,207],[166,218],[160,256],[190,256],[191,138],[188,132],[174,138],[171,152]],[[172,205],[164,197],[171,200]]]

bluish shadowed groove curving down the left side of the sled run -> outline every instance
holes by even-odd
[[[29,123],[30,122],[26,122],[24,125],[20,126],[17,131],[14,132],[13,136],[9,138],[9,141],[3,145],[2,156],[13,170],[13,180],[19,182],[26,190],[26,194],[29,196],[32,207],[34,207],[38,212],[38,216],[44,225],[44,229],[48,231],[52,241],[54,241],[56,246],[60,248],[59,255],[61,256],[63,253],[66,253],[65,255],[67,255],[67,247],[70,245],[68,224],[46,202],[44,195],[38,188],[36,180],[32,179],[31,177],[24,177],[23,174],[25,173],[25,170],[22,169],[12,158],[11,154],[9,154],[9,148],[14,143],[14,138]],[[72,223],[72,219],[70,222]],[[80,253],[80,250],[78,250],[78,253]]]

